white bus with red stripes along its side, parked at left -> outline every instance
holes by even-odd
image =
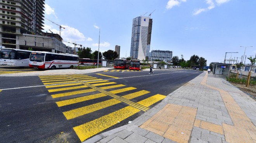
[[[32,52],[29,67],[39,69],[73,68],[78,66],[79,57],[76,54],[58,54],[50,52]]]

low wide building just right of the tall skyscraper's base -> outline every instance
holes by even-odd
[[[149,59],[151,60],[167,60],[168,62],[172,61],[173,58],[173,52],[172,51],[161,51],[161,50],[152,50],[149,56]]]

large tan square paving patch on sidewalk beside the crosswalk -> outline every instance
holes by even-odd
[[[140,128],[147,129],[170,140],[187,143],[192,132],[197,109],[167,104]]]

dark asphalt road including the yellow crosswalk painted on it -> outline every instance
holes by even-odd
[[[61,73],[60,73],[61,74]],[[0,142],[69,142],[128,124],[195,70],[0,77]]]

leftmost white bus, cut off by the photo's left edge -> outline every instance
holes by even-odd
[[[29,66],[31,51],[12,48],[0,49],[0,65],[6,66]]]

